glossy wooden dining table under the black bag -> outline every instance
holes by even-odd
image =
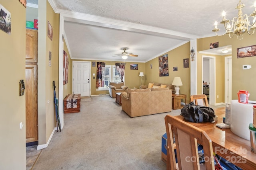
[[[250,141],[238,137],[230,129],[216,127],[216,124],[222,123],[222,118],[225,117],[225,107],[214,109],[214,112],[218,116],[218,121],[214,123],[195,123],[187,121],[182,115],[176,117],[206,131],[212,140],[213,152],[222,158],[244,170],[256,170],[256,153],[251,151]]]

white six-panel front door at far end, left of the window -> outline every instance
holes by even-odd
[[[73,61],[73,94],[90,96],[90,62]]]

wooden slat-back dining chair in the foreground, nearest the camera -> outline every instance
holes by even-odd
[[[167,170],[200,170],[200,167],[215,170],[212,141],[206,132],[172,115],[166,115],[164,119],[167,133]],[[198,143],[203,145],[204,149],[205,163],[202,166],[199,163]]]

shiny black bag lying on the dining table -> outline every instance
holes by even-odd
[[[186,120],[192,122],[212,122],[214,121],[213,117],[215,117],[214,110],[210,107],[206,106],[198,106],[195,105],[194,102],[190,102],[186,104],[181,109],[181,114]]]

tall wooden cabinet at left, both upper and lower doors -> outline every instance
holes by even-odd
[[[26,143],[38,141],[37,30],[26,29]]]

